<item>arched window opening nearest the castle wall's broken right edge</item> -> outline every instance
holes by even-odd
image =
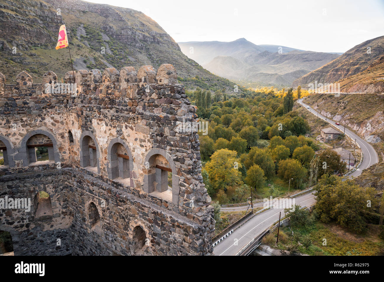
[[[149,159],[148,193],[172,202],[172,169],[167,159],[159,154]]]

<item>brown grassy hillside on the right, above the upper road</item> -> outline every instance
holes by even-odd
[[[367,40],[321,68],[296,79],[293,86],[339,82],[341,91],[383,92],[384,36]]]

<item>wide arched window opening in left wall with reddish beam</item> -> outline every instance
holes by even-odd
[[[55,162],[52,140],[44,134],[35,134],[26,142],[28,164]]]

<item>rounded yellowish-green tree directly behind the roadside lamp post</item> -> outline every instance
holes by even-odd
[[[307,170],[301,166],[298,160],[290,158],[281,160],[278,166],[279,169],[277,175],[285,181],[289,181],[290,178],[293,178],[291,185],[293,184],[295,188],[299,188],[301,183],[303,183],[307,177]]]

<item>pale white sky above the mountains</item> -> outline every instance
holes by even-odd
[[[176,42],[233,41],[345,52],[384,35],[384,0],[91,0],[139,10]]]

